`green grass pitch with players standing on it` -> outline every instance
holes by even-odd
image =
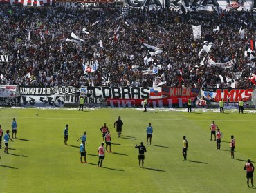
[[[0,152],[0,192],[256,192],[247,187],[244,171],[247,159],[256,160],[256,114],[226,112],[1,108],[4,132],[16,117],[19,139],[10,141],[10,154]],[[121,138],[113,128],[118,116],[124,122]],[[212,121],[223,132],[221,150],[210,141]],[[140,169],[134,146],[145,143],[149,122],[154,128],[152,145],[146,145],[145,169]],[[99,168],[103,123],[115,144]],[[68,146],[63,137],[66,124]],[[87,164],[80,163],[80,142],[76,143],[84,130]],[[234,160],[230,159],[231,134],[236,139]],[[182,161],[183,135],[188,138],[188,161]]]

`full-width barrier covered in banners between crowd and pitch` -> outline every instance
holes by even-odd
[[[224,108],[237,108],[241,99],[245,106],[255,108],[256,90],[199,89],[199,88],[143,88],[143,87],[18,87],[0,86],[0,106],[22,107],[77,107],[80,96],[88,107],[141,107],[144,99],[154,108],[184,108],[188,98],[192,106],[217,108],[223,99]]]

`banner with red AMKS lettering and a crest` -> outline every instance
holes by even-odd
[[[243,99],[250,101],[253,94],[253,89],[202,89],[201,96],[204,100],[210,102],[219,102],[223,99],[224,102],[238,103]]]

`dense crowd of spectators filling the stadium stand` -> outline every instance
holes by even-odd
[[[147,17],[170,21],[153,25]],[[212,25],[202,27],[202,38],[194,39],[192,25],[185,22],[185,17],[208,19]],[[143,74],[142,70],[161,65],[158,76],[168,86],[216,88],[220,84],[219,88],[228,88],[230,84],[221,84],[219,74],[232,78],[235,72],[242,72],[236,79],[237,88],[253,88],[248,77],[256,72],[255,62],[244,57],[244,50],[256,36],[254,17],[255,12],[234,10],[180,16],[179,11],[170,8],[132,9],[120,18],[120,10],[113,9],[1,8],[0,51],[9,55],[10,61],[0,63],[0,84],[96,86],[102,85],[102,73],[109,73],[110,81],[103,85],[147,87],[152,86],[156,74]],[[241,20],[248,23],[244,38],[239,34]],[[92,25],[95,21],[100,22]],[[213,34],[217,26],[220,30]],[[89,34],[82,31],[84,27]],[[72,32],[84,43],[66,41]],[[212,34],[214,45],[199,57],[205,34]],[[152,57],[152,63],[145,63],[148,52],[143,43],[163,52]],[[208,56],[217,63],[235,58],[235,67],[201,65],[203,57]],[[92,60],[98,61],[98,70],[84,73],[82,63]]]

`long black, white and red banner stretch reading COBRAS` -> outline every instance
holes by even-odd
[[[147,98],[151,107],[184,107],[188,97],[196,100],[198,88],[82,87],[87,106],[135,107]]]

